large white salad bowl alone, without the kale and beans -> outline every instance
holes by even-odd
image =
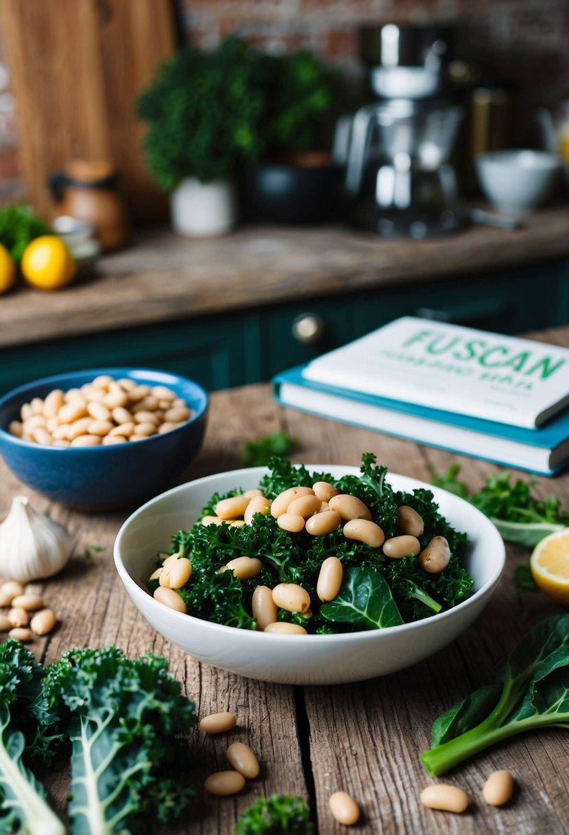
[[[307,465],[336,478],[355,467]],[[389,473],[395,490],[432,490],[441,514],[471,541],[466,567],[475,579],[471,597],[425,620],[343,635],[269,635],[209,623],[167,608],[151,597],[146,581],[156,554],[172,534],[189,529],[216,491],[256,487],[266,468],[233,470],[182,484],[144,504],[123,524],[114,545],[120,578],[146,620],[173,644],[208,664],[241,676],[282,684],[336,684],[383,676],[415,664],[455,640],[480,615],[501,577],[506,552],[495,526],[479,510],[446,490]]]

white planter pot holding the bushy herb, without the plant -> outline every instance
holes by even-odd
[[[237,220],[234,185],[229,180],[202,183],[188,177],[170,195],[170,214],[179,235],[225,235]]]

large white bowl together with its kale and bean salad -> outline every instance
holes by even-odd
[[[126,520],[114,559],[146,620],[190,655],[331,684],[451,643],[490,600],[505,548],[464,499],[365,453],[360,468],[275,457],[182,484]]]

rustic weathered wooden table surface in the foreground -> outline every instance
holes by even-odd
[[[569,331],[551,341],[569,345]],[[268,385],[218,392],[211,397],[204,447],[184,473],[196,478],[239,467],[239,451],[248,440],[285,428],[300,439],[295,460],[305,463],[357,464],[361,453],[376,453],[391,472],[424,481],[433,471],[461,463],[461,476],[473,488],[497,468],[471,458],[420,447],[358,428],[306,417],[275,405]],[[569,500],[569,473],[541,478],[541,496],[555,492]],[[464,815],[433,812],[419,802],[420,790],[431,782],[420,763],[429,747],[431,724],[441,711],[492,680],[501,660],[531,625],[562,610],[539,592],[519,593],[513,579],[518,564],[527,563],[526,549],[508,546],[507,568],[487,609],[459,640],[437,655],[391,676],[344,686],[290,687],[264,684],[199,664],[170,645],[146,623],[128,599],[113,567],[113,541],[129,511],[80,514],[48,504],[23,488],[0,466],[0,519],[11,499],[26,493],[37,509],[65,524],[75,538],[73,558],[57,578],[35,584],[57,612],[52,635],[36,638],[31,648],[45,662],[72,646],[117,644],[128,655],[155,652],[169,659],[170,669],[196,704],[199,716],[231,710],[238,725],[234,741],[247,741],[259,755],[259,778],[235,797],[204,795],[202,782],[224,768],[228,736],[204,736],[195,730],[189,740],[189,762],[195,762],[194,807],[184,824],[168,832],[229,835],[240,812],[256,797],[270,792],[301,794],[310,800],[320,835],[345,832],[330,816],[328,797],[344,789],[356,797],[362,817],[355,832],[419,835],[419,833],[501,832],[511,835],[569,832],[569,737],[553,728],[518,736],[456,768],[443,779],[466,789],[471,809]],[[102,550],[83,559],[92,545]],[[517,789],[502,808],[481,799],[481,786],[496,769],[516,776]],[[48,774],[54,802],[63,810],[68,773]]]

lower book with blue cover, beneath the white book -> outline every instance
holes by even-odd
[[[569,409],[527,429],[328,386],[304,372],[299,366],[273,378],[283,406],[540,475],[553,475],[569,460]]]

